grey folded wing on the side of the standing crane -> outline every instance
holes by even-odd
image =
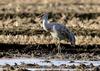
[[[75,37],[74,34],[65,26],[63,25],[53,25],[53,31],[58,33],[58,36],[61,36],[61,38],[67,38],[71,44],[75,43]]]

